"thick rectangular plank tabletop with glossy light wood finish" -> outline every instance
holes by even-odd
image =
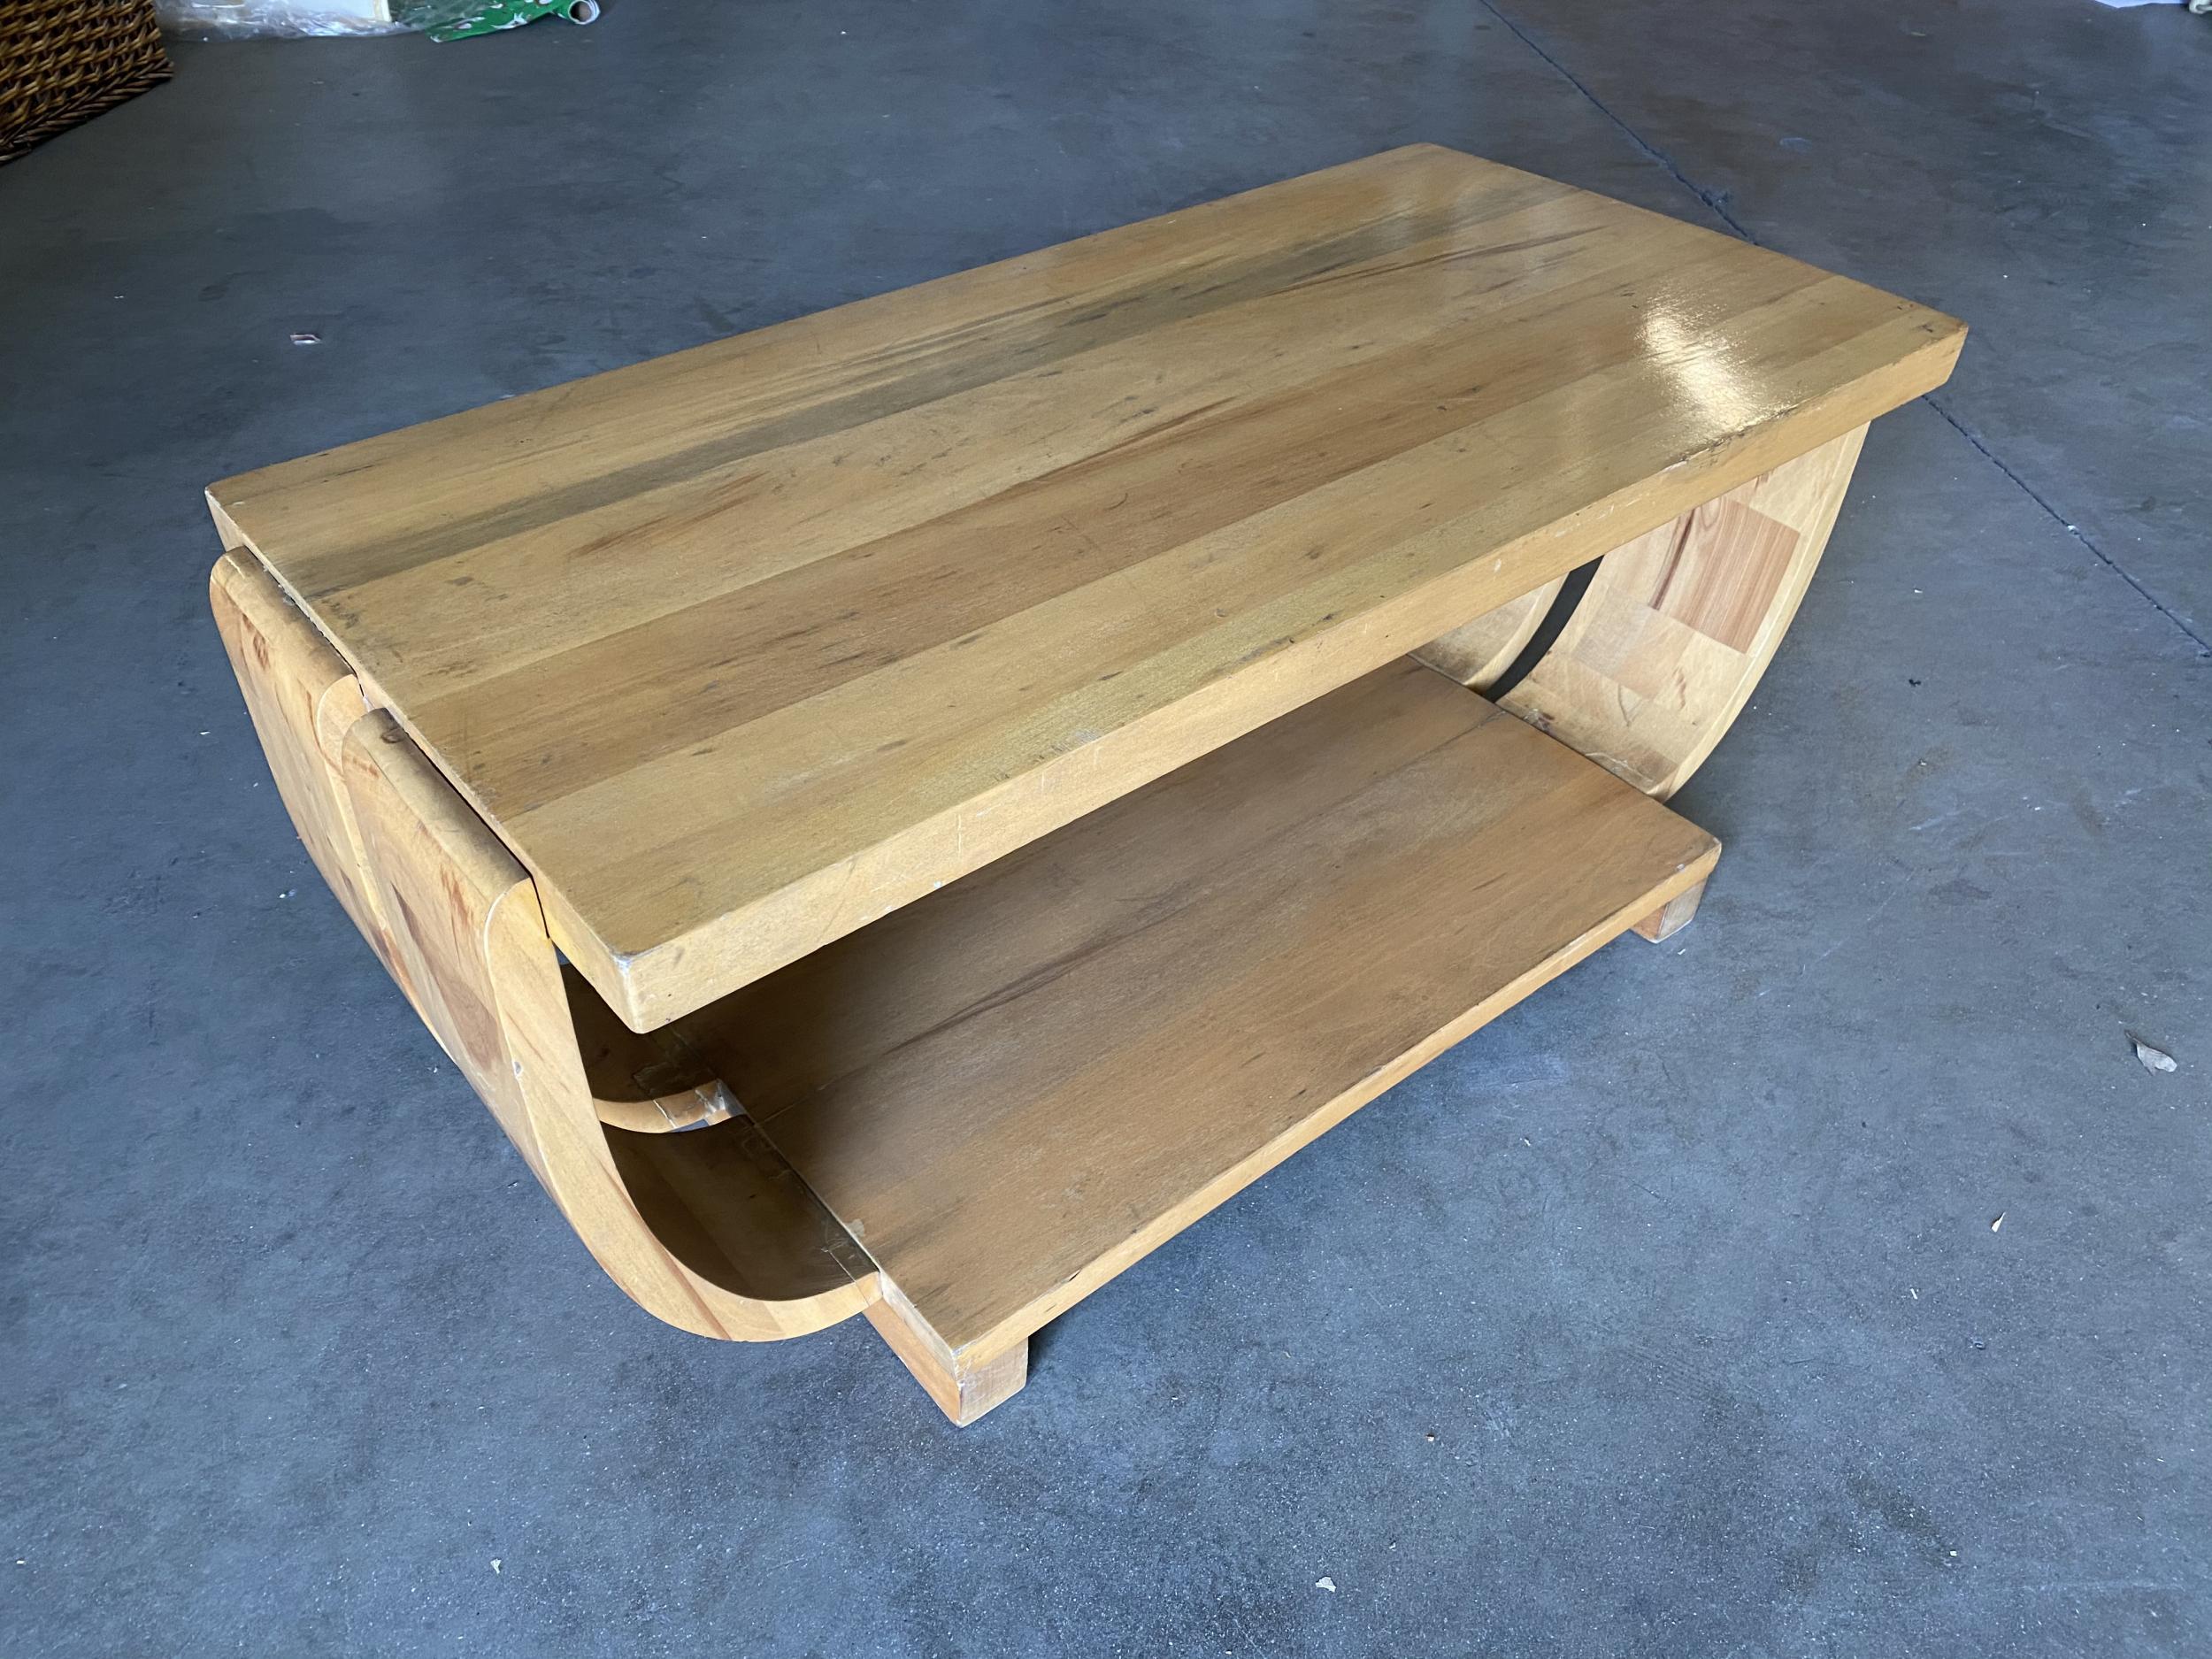
[[[1416,146],[215,484],[653,1029],[1942,383]]]

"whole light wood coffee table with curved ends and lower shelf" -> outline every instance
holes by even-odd
[[[1719,845],[1964,330],[1416,146],[208,491],[307,852],[599,1265],[1029,1336]]]

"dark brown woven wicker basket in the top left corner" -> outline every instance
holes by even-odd
[[[0,161],[159,80],[153,0],[0,0]]]

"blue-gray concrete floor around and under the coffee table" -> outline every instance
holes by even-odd
[[[626,0],[177,71],[0,170],[0,1650],[2212,1648],[2212,24]],[[1681,799],[1697,927],[967,1433],[863,1325],[657,1327],[316,885],[201,484],[1407,139],[1975,327]]]

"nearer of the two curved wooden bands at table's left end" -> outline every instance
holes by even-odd
[[[602,1128],[538,889],[383,710],[345,734],[343,781],[422,1020],[633,1301],[739,1340],[876,1301],[874,1265],[750,1124]]]

